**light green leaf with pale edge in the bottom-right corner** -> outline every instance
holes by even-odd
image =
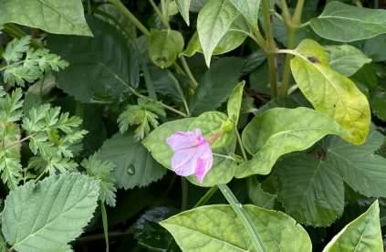
[[[323,252],[383,250],[378,200],[369,209],[334,236]]]

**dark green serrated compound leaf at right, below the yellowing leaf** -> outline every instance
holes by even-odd
[[[386,159],[374,154],[384,137],[371,131],[363,145],[331,137],[312,152],[277,163],[278,198],[297,221],[329,226],[344,207],[343,182],[369,197],[385,196]]]

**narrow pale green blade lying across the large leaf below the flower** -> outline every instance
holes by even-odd
[[[255,247],[256,252],[266,252],[266,248],[263,246],[263,242],[258,236],[256,226],[252,223],[250,217],[247,215],[244,206],[239,203],[239,201],[235,197],[235,194],[232,193],[231,189],[226,184],[218,184],[218,188],[220,188],[221,193],[224,195],[229,205],[232,206],[235,211],[235,214],[247,230],[247,233],[251,238],[252,244]]]

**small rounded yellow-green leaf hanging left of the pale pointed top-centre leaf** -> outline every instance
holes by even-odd
[[[169,68],[183,51],[183,36],[174,30],[151,29],[149,57],[160,68]]]

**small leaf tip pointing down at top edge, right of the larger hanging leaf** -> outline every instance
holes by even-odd
[[[260,0],[230,0],[237,10],[245,17],[250,26],[258,30],[257,20],[260,10]]]

